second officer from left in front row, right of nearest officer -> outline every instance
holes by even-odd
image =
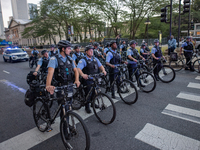
[[[106,71],[100,61],[93,56],[93,47],[88,45],[85,47],[86,56],[82,58],[77,66],[79,74],[83,77],[83,85],[90,85],[93,81],[88,80],[88,75],[99,73],[99,69],[106,75]],[[87,95],[91,89],[91,86],[85,88],[85,94]],[[87,100],[87,104],[85,105],[85,110],[87,113],[91,113],[89,103],[91,102],[91,98],[94,96],[95,92],[92,91],[92,94]],[[95,106],[97,107],[97,106]]]

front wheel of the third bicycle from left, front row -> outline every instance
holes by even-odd
[[[130,80],[123,80],[118,86],[120,98],[126,104],[134,104],[138,99],[138,91],[135,85]]]

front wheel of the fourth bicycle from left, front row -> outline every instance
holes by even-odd
[[[143,92],[149,93],[156,88],[156,80],[149,72],[143,72],[138,76],[138,85]]]

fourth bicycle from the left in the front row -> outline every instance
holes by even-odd
[[[139,88],[143,92],[150,93],[154,91],[156,88],[156,80],[150,72],[146,71],[145,66],[147,66],[145,64],[145,61],[138,60],[137,67],[135,68],[135,71],[131,75],[131,80],[133,82],[137,82]],[[136,78],[137,73],[138,77]]]

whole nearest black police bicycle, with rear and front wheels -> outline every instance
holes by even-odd
[[[50,94],[44,91],[43,96],[37,97],[36,102],[33,105],[33,117],[34,122],[41,132],[51,131],[51,124],[54,123],[56,116],[59,111],[63,111],[63,117],[60,121],[60,134],[63,144],[66,149],[85,149],[90,148],[90,136],[88,129],[83,121],[83,119],[75,112],[72,111],[71,98],[73,97],[73,92],[71,88],[72,85],[64,85],[55,88],[55,93],[59,93],[59,97],[51,98]],[[44,86],[41,86],[45,88]],[[45,94],[46,93],[46,94]],[[55,95],[55,94],[54,94]],[[50,112],[49,101],[60,101],[58,108],[52,114]],[[66,110],[65,107],[69,109]]]

